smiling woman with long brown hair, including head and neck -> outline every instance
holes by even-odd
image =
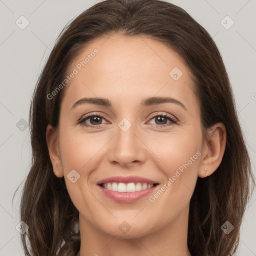
[[[236,251],[248,152],[219,51],[180,7],[105,0],[82,12],[29,117],[26,255]]]

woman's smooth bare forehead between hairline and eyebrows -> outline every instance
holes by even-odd
[[[70,65],[75,75],[66,85],[63,103],[81,97],[109,98],[113,106],[148,96],[171,96],[198,104],[191,73],[170,47],[145,36],[113,34],[87,44]],[[189,106],[188,106],[189,107]]]

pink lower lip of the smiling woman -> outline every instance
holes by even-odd
[[[155,189],[156,186],[153,186],[145,190],[135,191],[135,192],[117,192],[117,191],[108,190],[98,185],[98,187],[101,189],[104,195],[106,195],[107,197],[109,197],[110,199],[116,202],[122,202],[122,203],[137,201],[149,195],[150,193],[152,193],[152,191]]]

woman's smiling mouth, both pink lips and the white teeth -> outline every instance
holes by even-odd
[[[116,176],[100,180],[97,186],[115,202],[130,203],[153,192],[158,182],[138,176]]]

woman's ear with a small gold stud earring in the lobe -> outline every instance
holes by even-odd
[[[222,122],[215,123],[207,129],[206,139],[203,143],[202,157],[198,169],[199,177],[206,177],[205,170],[207,169],[207,176],[212,174],[219,166],[226,145],[226,129]]]

